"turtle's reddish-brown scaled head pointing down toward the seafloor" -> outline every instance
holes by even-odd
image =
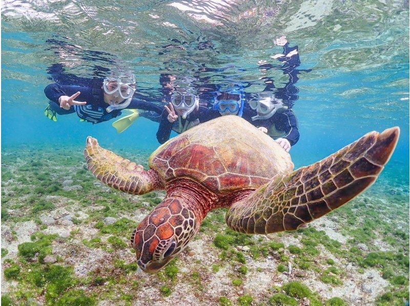
[[[141,221],[131,236],[138,266],[147,273],[160,270],[187,246],[199,225],[185,203],[166,198]]]

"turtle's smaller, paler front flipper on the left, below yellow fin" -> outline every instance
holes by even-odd
[[[146,171],[141,165],[101,148],[95,138],[87,137],[84,157],[94,176],[115,189],[131,194],[144,194],[164,188],[154,170]]]

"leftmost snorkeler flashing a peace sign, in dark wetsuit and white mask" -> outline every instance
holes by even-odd
[[[161,112],[159,105],[134,97],[136,83],[132,73],[112,73],[104,80],[81,80],[80,85],[53,83],[44,89],[50,100],[46,116],[56,121],[56,114],[76,113],[81,120],[95,124],[121,115],[125,108]]]

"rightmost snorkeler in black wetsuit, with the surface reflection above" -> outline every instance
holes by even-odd
[[[258,95],[258,99],[249,100],[249,106],[257,113],[256,116],[252,117],[252,124],[270,135],[283,149],[289,152],[291,146],[298,142],[300,136],[298,122],[291,109],[298,99],[298,89],[295,83],[299,79],[297,75],[300,70],[297,67],[300,65],[300,59],[298,47],[289,47],[285,36],[276,39],[275,43],[283,46],[283,52],[272,56],[272,58],[278,59],[283,64],[280,69],[289,76],[289,80],[283,88],[276,88],[271,78],[262,77],[266,87]],[[265,62],[259,62],[259,64],[261,72],[274,67]]]

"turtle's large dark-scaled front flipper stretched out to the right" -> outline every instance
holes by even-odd
[[[226,216],[238,232],[296,230],[352,200],[370,186],[396,147],[400,130],[371,132],[331,156],[261,186]]]

